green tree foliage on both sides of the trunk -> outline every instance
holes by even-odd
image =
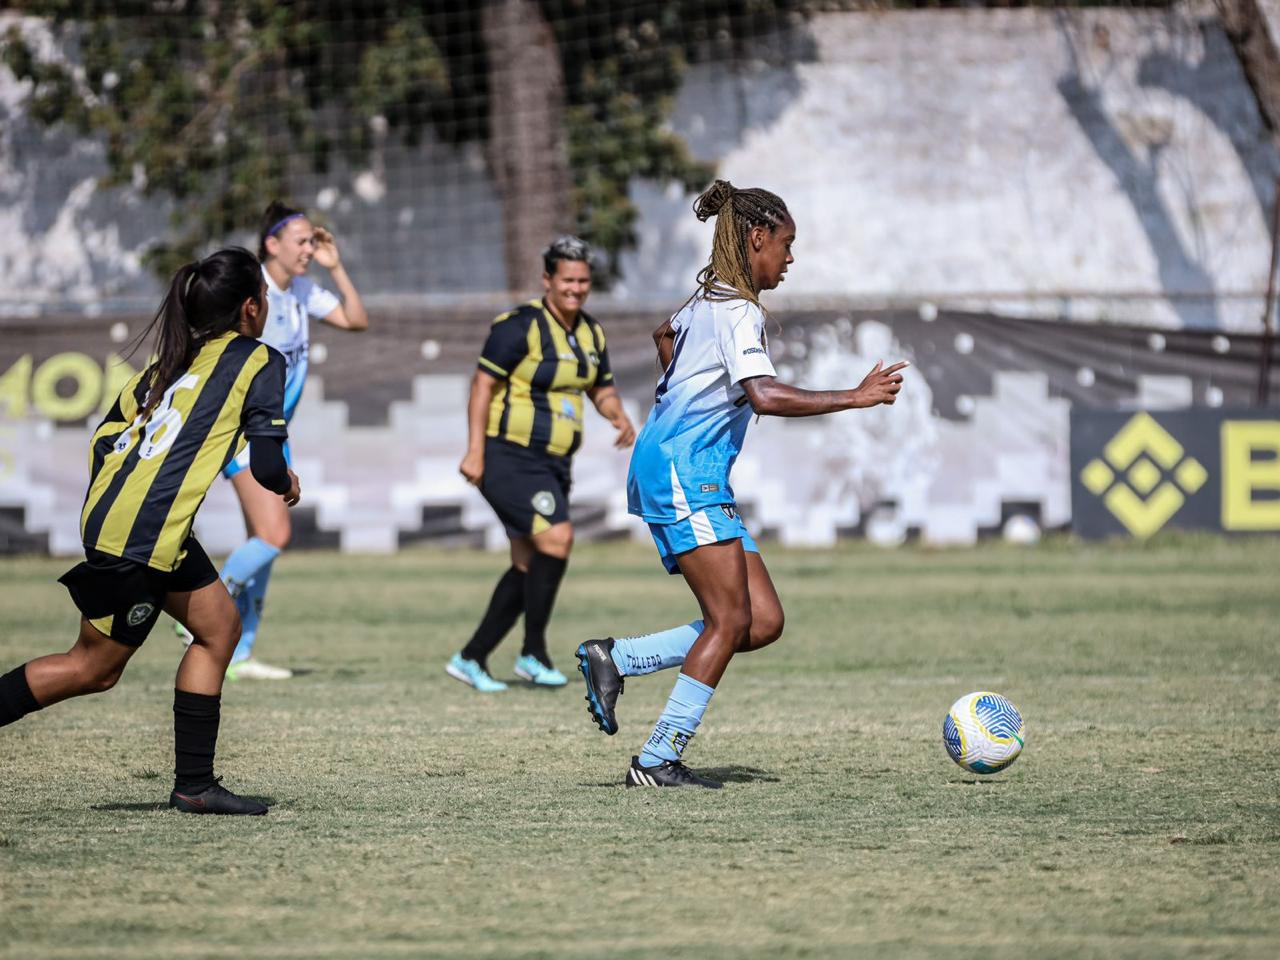
[[[634,177],[701,188],[713,170],[664,127],[687,64],[777,26],[799,0],[543,0],[566,78],[577,229],[605,251],[602,279],[634,243]],[[63,56],[19,27],[3,40],[32,83],[28,114],[99,134],[105,186],[172,201],[161,275],[211,238],[246,229],[300,173],[335,152],[367,161],[383,131],[415,143],[486,134],[480,4],[431,0],[18,0]]]

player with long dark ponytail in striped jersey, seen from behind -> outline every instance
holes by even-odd
[[[209,485],[248,438],[251,470],[282,503],[298,502],[284,462],[284,357],[260,343],[261,268],[247,250],[220,250],[174,275],[138,338],[154,364],[120,392],[90,447],[81,512],[84,562],[60,582],[81,611],[67,653],[0,676],[0,727],[59,700],[110,690],[160,611],[193,641],[174,681],[174,787],[186,813],[264,814],[214,776],[223,676],[239,617],[191,535]]]

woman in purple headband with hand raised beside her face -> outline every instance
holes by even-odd
[[[342,265],[333,234],[314,225],[301,210],[273,200],[262,212],[257,236],[257,257],[262,264],[268,303],[262,340],[284,355],[284,419],[288,421],[302,399],[307,379],[311,320],[342,330],[364,330],[369,326],[369,316],[356,284]],[[338,296],[306,275],[312,261],[329,271]],[[232,552],[221,571],[242,625],[227,676],[230,680],[287,680],[293,676],[292,671],[257,659],[253,643],[271,566],[288,545],[293,527],[280,498],[262,489],[250,475],[250,456],[248,451],[243,451],[223,471],[236,488],[248,530],[248,539]],[[292,462],[288,445],[284,457]],[[189,636],[184,639],[189,640]]]

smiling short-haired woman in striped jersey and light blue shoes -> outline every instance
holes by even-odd
[[[471,379],[460,471],[502,520],[511,568],[445,671],[485,694],[507,689],[490,676],[489,654],[521,614],[516,676],[538,686],[566,682],[547,652],[547,623],[573,547],[568,492],[582,440],[582,394],[618,431],[614,447],[636,438],[613,385],[604,330],[582,310],[591,292],[589,257],[577,237],[559,237],[543,252],[544,296],[493,321]]]

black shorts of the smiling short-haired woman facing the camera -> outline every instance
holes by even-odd
[[[568,457],[538,453],[492,436],[485,440],[480,493],[508,536],[532,536],[568,520],[571,463]]]

